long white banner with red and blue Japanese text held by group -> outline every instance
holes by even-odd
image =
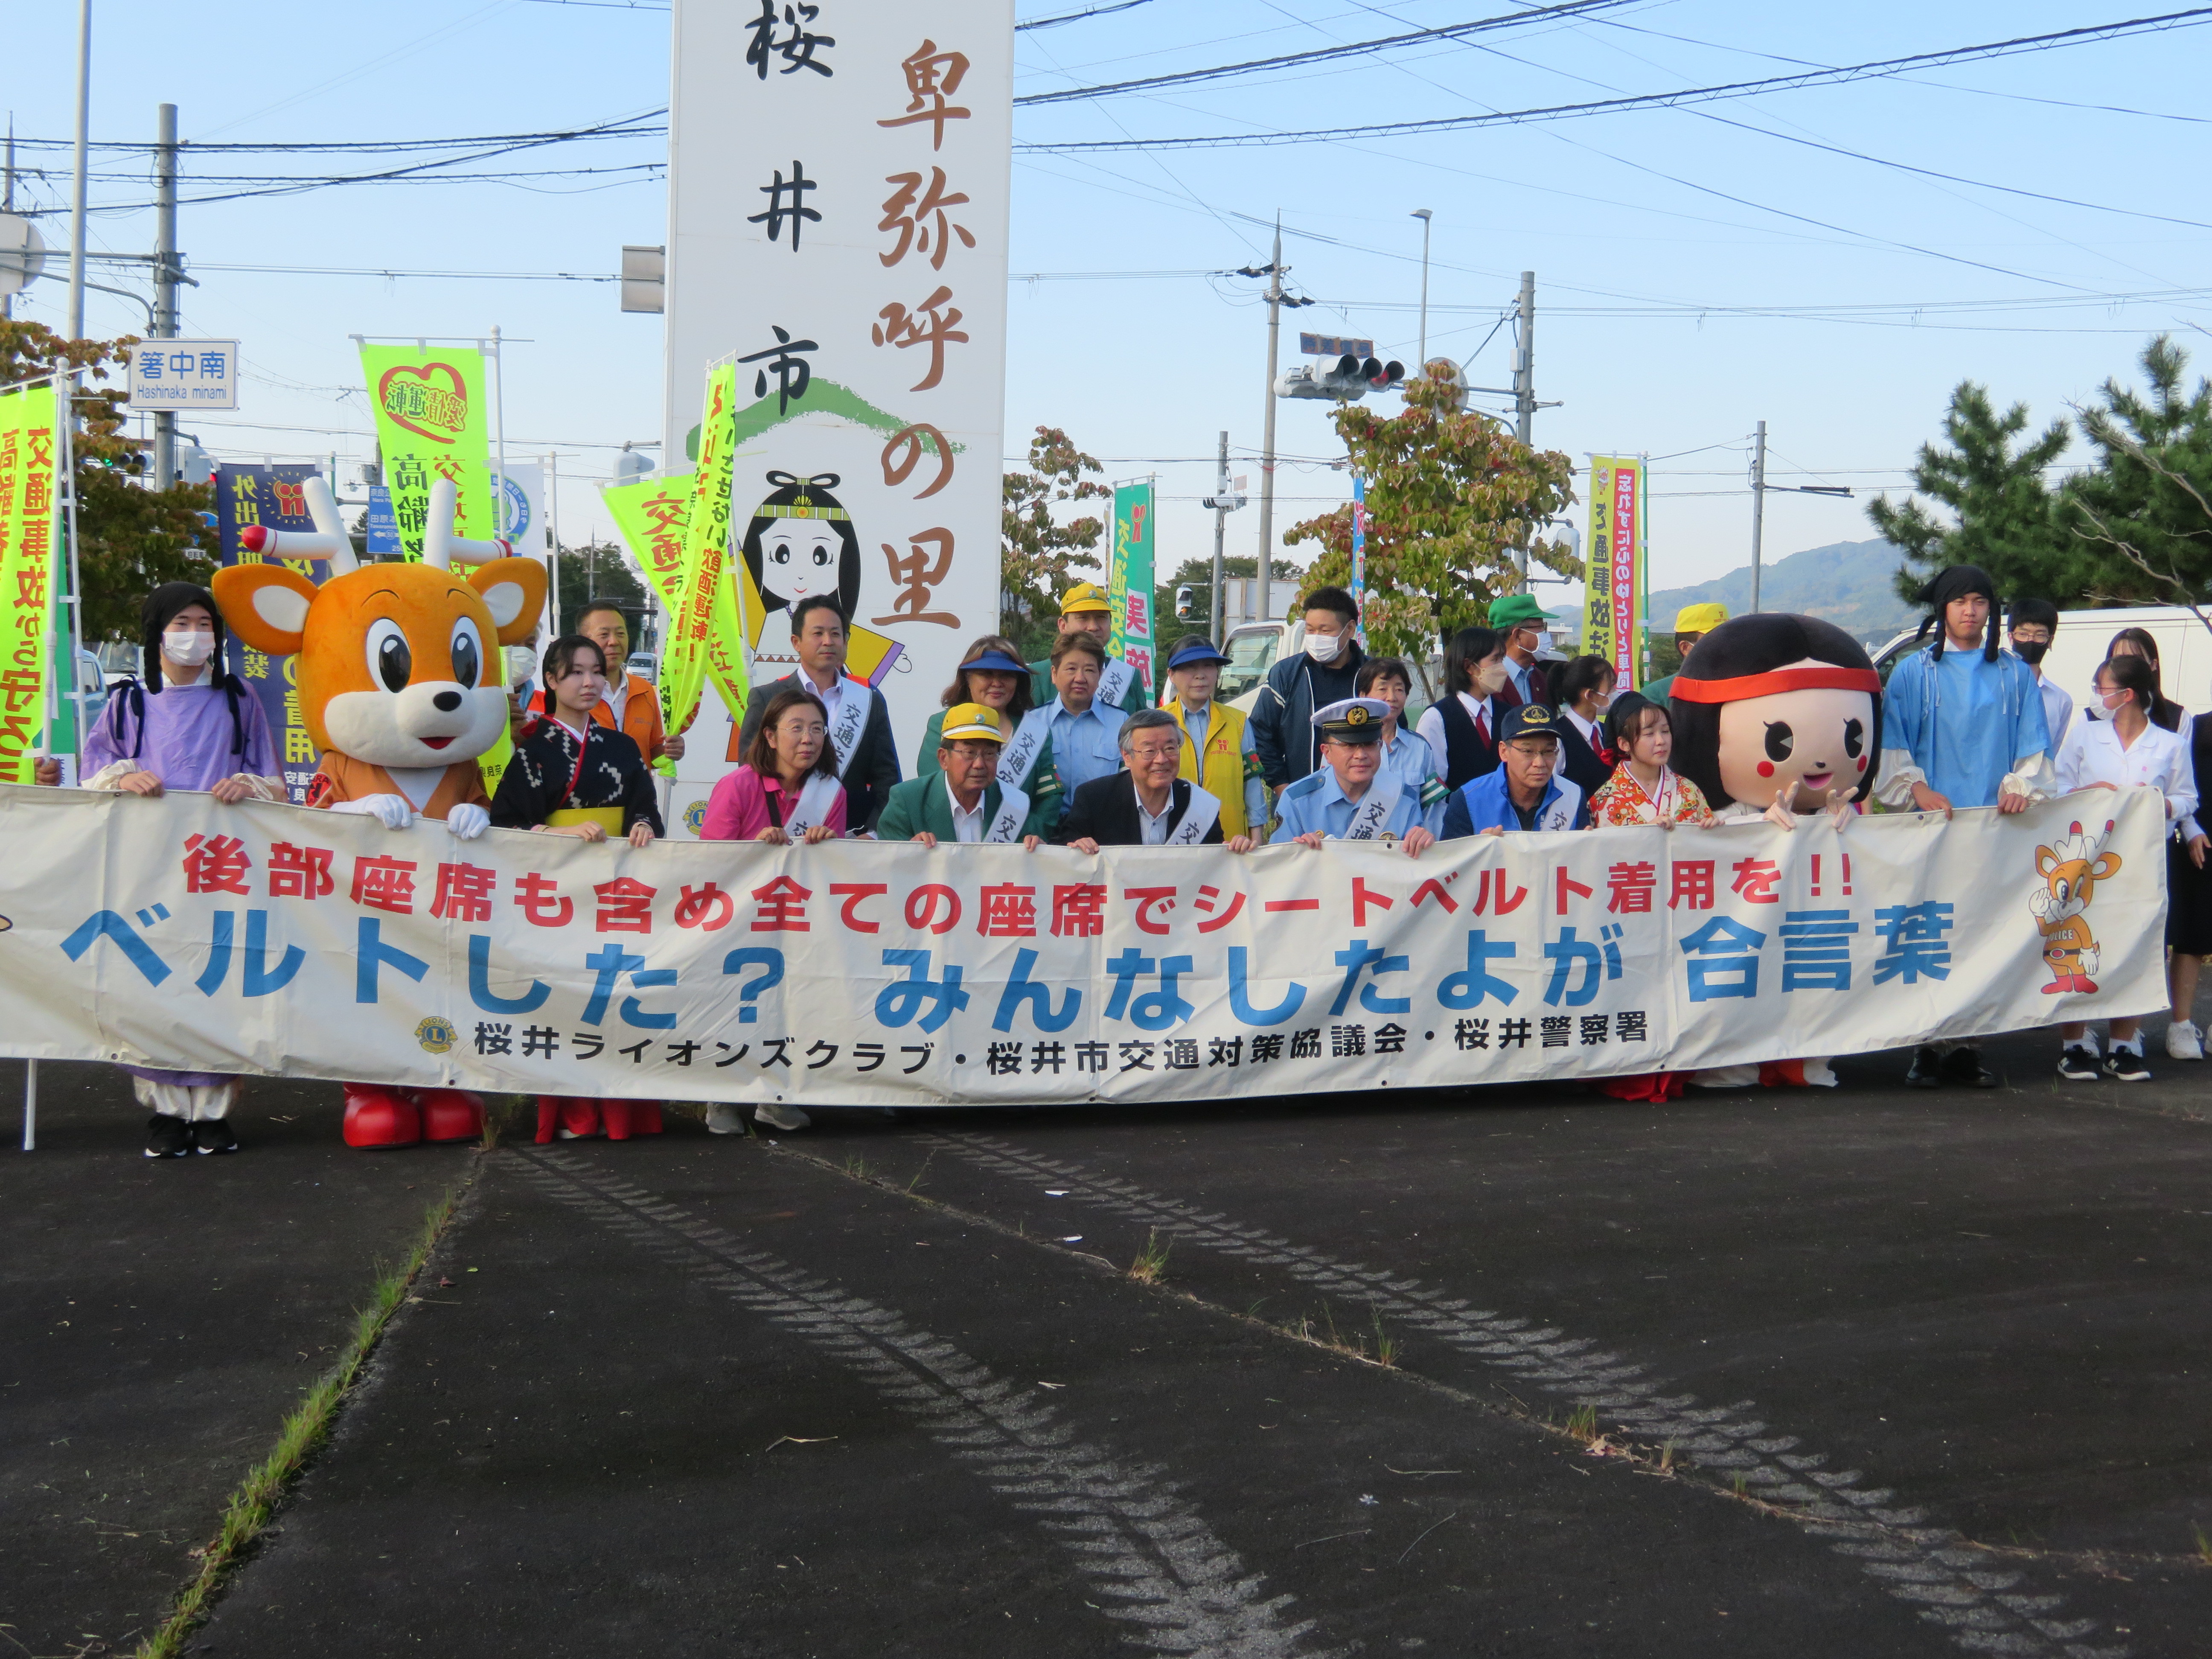
[[[7,785],[0,1053],[805,1106],[1840,1055],[2163,1006],[2163,834],[2097,790],[1420,858],[635,849]]]

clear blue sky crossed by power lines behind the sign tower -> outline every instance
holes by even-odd
[[[838,0],[823,2],[830,27]],[[1022,0],[1024,18],[1084,9]],[[1146,0],[1024,31],[1018,93],[1097,86],[1522,11],[1511,0]],[[1033,144],[1402,122],[1573,104],[1860,64],[2143,15],[2073,0],[1905,7],[1754,7],[1632,0],[1321,66],[1018,111]],[[175,9],[95,0],[93,137],[144,142],[155,104],[197,142],[453,137],[593,126],[666,104],[668,13],[562,0],[453,11],[422,0]],[[71,131],[73,4],[20,4],[7,100],[24,137]],[[1851,484],[1858,500],[1767,502],[1767,551],[1871,535],[1863,502],[1902,484],[1962,378],[2024,398],[2039,420],[2132,374],[2143,341],[2205,341],[2212,208],[2201,86],[2212,33],[1964,62],[1840,86],[1418,137],[1212,150],[1022,153],[1013,170],[1009,453],[1037,422],[1157,473],[1161,555],[1212,549],[1197,498],[1221,429],[1254,476],[1263,411],[1259,283],[1285,226],[1294,332],[1371,336],[1413,358],[1420,223],[1436,215],[1429,349],[1504,385],[1495,330],[1522,270],[1537,274],[1537,392],[1562,407],[1535,436],[1655,458],[1652,584],[1705,580],[1747,557],[1745,462],[1770,425],[1776,482]],[[2190,119],[2174,119],[2190,117]],[[1832,148],[1814,148],[1832,146]],[[1856,155],[1838,155],[1849,150]],[[367,456],[347,336],[511,338],[511,458],[560,453],[564,540],[604,526],[588,478],[626,438],[655,438],[659,319],[622,316],[611,283],[325,276],[223,265],[400,272],[608,274],[622,243],[664,239],[650,166],[661,139],[571,144],[456,168],[504,181],[405,181],[199,201],[261,188],[217,175],[369,173],[407,157],[192,155],[179,241],[201,285],[188,334],[239,336],[250,365],[234,416],[204,440],[232,458]],[[66,201],[66,150],[24,148],[18,204]],[[144,157],[95,153],[95,204],[148,201]],[[734,166],[743,168],[743,161]],[[597,168],[595,173],[573,173]],[[624,170],[628,168],[628,170]],[[1953,175],[1931,179],[1905,168]],[[2039,192],[2068,201],[2008,195]],[[2093,206],[2090,206],[2093,204]],[[2183,221],[2183,223],[2174,223]],[[2194,223],[2192,223],[2194,221]],[[42,221],[66,243],[66,217]],[[102,212],[93,248],[150,248],[150,212]],[[135,285],[108,265],[97,281]],[[2179,294],[2174,290],[2181,290]],[[60,283],[18,314],[58,323]],[[142,327],[93,294],[88,330]],[[1394,403],[1394,400],[1391,400]],[[1345,476],[1325,411],[1281,405],[1276,526],[1325,511]],[[1230,520],[1254,549],[1256,513]]]

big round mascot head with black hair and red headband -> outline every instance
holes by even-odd
[[[1668,695],[1672,768],[1714,810],[1781,790],[1865,801],[1882,757],[1882,679],[1832,622],[1730,617],[1697,641]],[[1803,801],[1798,805],[1812,805]]]

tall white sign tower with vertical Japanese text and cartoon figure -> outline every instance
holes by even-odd
[[[900,754],[998,630],[1011,168],[1013,0],[675,0],[661,465],[732,363],[719,613],[763,684],[832,595]]]

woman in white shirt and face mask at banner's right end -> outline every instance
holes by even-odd
[[[2130,790],[2150,785],[2166,796],[2166,823],[2183,827],[2199,845],[2197,832],[2197,770],[2190,761],[2188,739],[2152,723],[2150,710],[2159,701],[2159,675],[2141,655],[2112,655],[2097,670],[2097,688],[2090,692],[2090,710],[2097,719],[2075,721],[2075,728],[2059,745],[2057,787],[2059,794],[2075,790]],[[2088,812],[2081,814],[2088,823]],[[2095,825],[2090,825],[2095,827]],[[2101,874],[2101,872],[2099,872]],[[2064,916],[2053,916],[2053,922]],[[2057,945],[2046,922],[2046,940]],[[2084,960],[2084,971],[2095,967]],[[2093,989],[2086,980],[2075,989]],[[2059,1077],[2073,1082],[2095,1082],[2099,1071],[2124,1084],[2146,1082],[2150,1066],[2143,1064],[2141,1020],[2112,1020],[2112,1048],[2097,1064],[2097,1037],[2086,1022],[2059,1026]]]

